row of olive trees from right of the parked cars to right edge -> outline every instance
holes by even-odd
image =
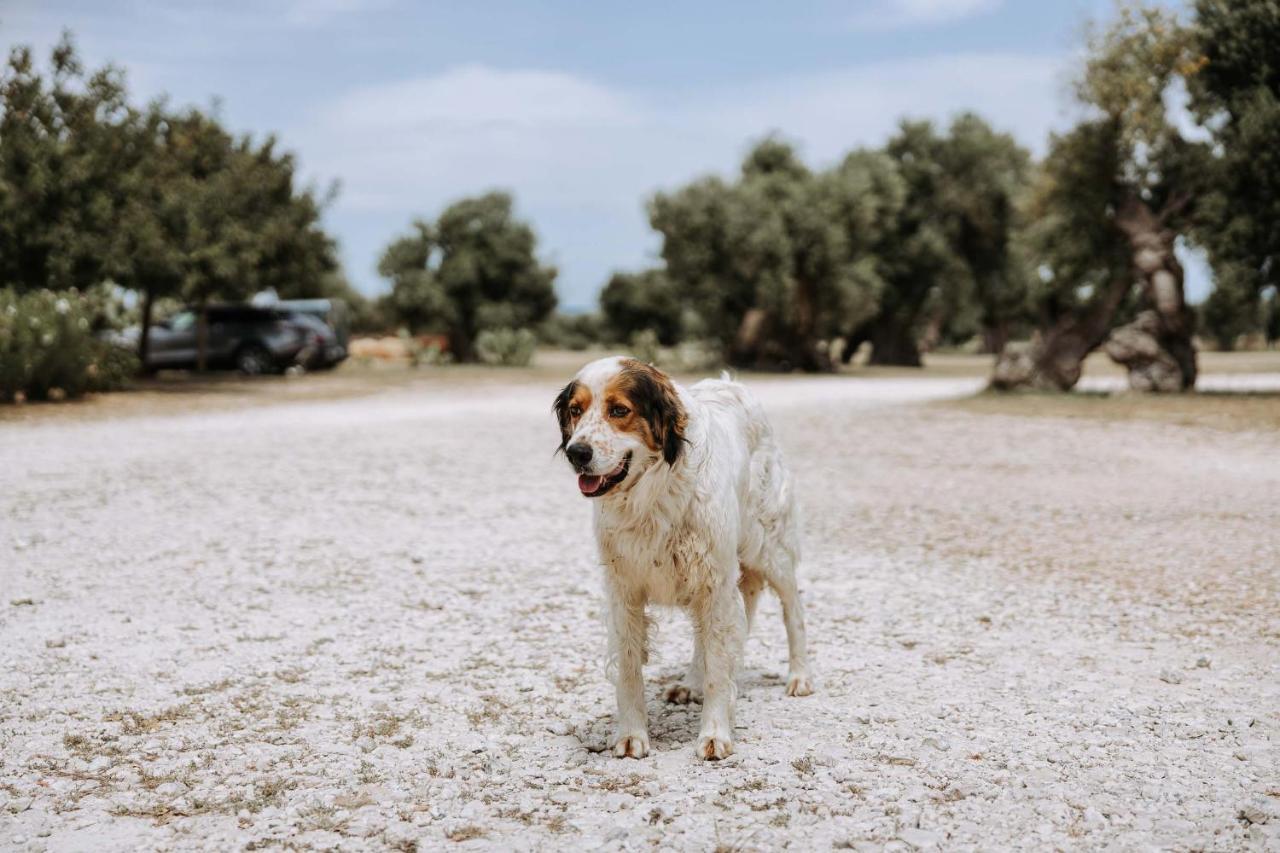
[[[867,343],[873,364],[918,365],[922,348],[974,342],[998,356],[998,388],[1070,388],[1103,347],[1135,388],[1189,388],[1197,333],[1222,348],[1280,336],[1277,44],[1274,1],[1199,0],[1190,20],[1123,4],[1088,36],[1074,86],[1085,119],[1053,134],[1042,161],[973,114],[945,131],[904,122],[883,147],[824,170],[767,138],[736,178],[654,196],[662,265],[614,274],[598,318],[544,328],[698,339],[733,365],[801,370],[832,369]],[[1167,106],[1179,92],[1185,117]],[[467,210],[493,227],[462,245],[447,232]],[[1181,245],[1213,269],[1198,311]],[[502,264],[490,263],[460,278],[490,251],[509,275],[494,278]],[[456,336],[462,357],[486,324],[552,311],[538,269],[503,196],[419,223],[381,266],[394,316]]]

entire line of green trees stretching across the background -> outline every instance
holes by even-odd
[[[810,371],[865,345],[893,365],[969,345],[997,356],[996,387],[1070,388],[1101,347],[1135,388],[1181,389],[1193,336],[1280,336],[1277,44],[1274,0],[1197,0],[1188,19],[1121,4],[1088,35],[1085,118],[1041,161],[973,114],[904,120],[826,169],[765,138],[732,179],[652,197],[662,264],[618,272],[579,318],[554,314],[556,270],[506,193],[413,223],[380,260],[390,292],[367,301],[337,272],[324,199],[273,140],[131,106],[120,74],[84,72],[69,41],[45,73],[19,47],[0,78],[0,286],[110,280],[143,318],[157,300],[268,287],[344,296],[357,327],[447,336],[462,361],[520,329]],[[1187,114],[1171,115],[1179,96]],[[1198,310],[1178,246],[1213,269]]]

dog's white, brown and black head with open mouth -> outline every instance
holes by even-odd
[[[600,359],[556,397],[561,451],[586,497],[625,491],[652,465],[675,465],[689,420],[671,378],[635,359]]]

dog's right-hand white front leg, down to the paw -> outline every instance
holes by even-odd
[[[698,733],[698,756],[710,761],[733,753],[733,703],[737,697],[737,665],[746,639],[746,611],[736,579],[726,573],[701,607],[695,608],[705,671],[703,675],[703,725]]]

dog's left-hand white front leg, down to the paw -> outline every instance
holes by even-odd
[[[622,589],[609,590],[609,657],[618,699],[618,734],[613,754],[644,758],[649,754],[649,720],[644,704],[644,663],[649,624],[644,598]]]

